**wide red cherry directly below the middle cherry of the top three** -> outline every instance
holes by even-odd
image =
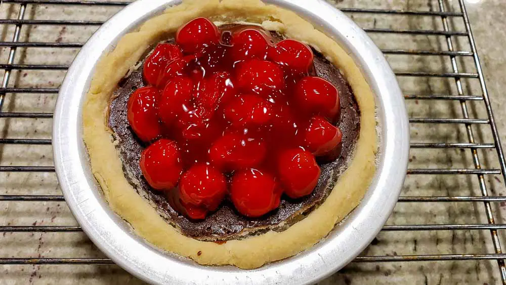
[[[245,92],[270,95],[284,89],[283,70],[276,63],[252,59],[235,69],[237,87]]]

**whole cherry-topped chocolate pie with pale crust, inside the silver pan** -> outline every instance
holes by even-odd
[[[375,104],[332,39],[259,0],[183,1],[99,61],[83,140],[110,207],[156,247],[257,268],[304,251],[375,171]]]

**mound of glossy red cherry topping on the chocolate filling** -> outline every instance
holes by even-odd
[[[307,45],[258,26],[182,26],[128,99],[145,182],[190,222],[224,202],[258,219],[310,196],[343,148],[340,92],[314,62]]]

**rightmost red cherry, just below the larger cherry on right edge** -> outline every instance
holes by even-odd
[[[304,138],[308,149],[314,155],[321,156],[339,147],[343,133],[325,118],[315,116],[310,119]]]

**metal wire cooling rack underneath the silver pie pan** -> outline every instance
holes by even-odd
[[[504,154],[469,16],[463,0],[418,2],[334,3],[396,71],[412,142],[389,222],[360,257],[323,283],[506,284],[499,234],[506,229]],[[126,4],[0,2],[0,283],[137,281],[77,226],[51,149],[52,112],[68,65]]]

